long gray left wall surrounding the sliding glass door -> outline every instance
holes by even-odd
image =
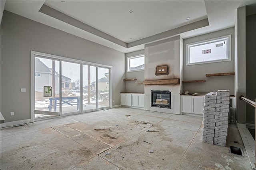
[[[112,66],[113,105],[120,105],[120,92],[125,91],[124,53],[4,11],[0,97],[6,122],[30,119],[30,50]],[[21,93],[21,88],[26,92]]]

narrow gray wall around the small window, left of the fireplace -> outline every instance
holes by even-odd
[[[139,51],[134,51],[131,53],[126,53],[126,57],[131,57],[134,55],[141,55],[141,54],[144,54],[144,49],[139,50]],[[126,67],[127,67],[127,63],[126,63]],[[135,84],[135,82],[142,82],[144,80],[144,70],[143,71],[126,72],[126,79],[137,79],[137,80],[136,81],[125,81],[125,91],[124,92],[144,93],[144,85],[143,84]]]

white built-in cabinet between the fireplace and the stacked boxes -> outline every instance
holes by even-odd
[[[180,96],[181,112],[203,115],[204,96]]]

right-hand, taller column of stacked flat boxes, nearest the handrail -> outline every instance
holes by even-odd
[[[216,99],[214,144],[226,146],[230,92],[218,90]]]

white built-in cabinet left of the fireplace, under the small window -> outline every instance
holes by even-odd
[[[121,93],[120,99],[121,99],[122,106],[144,108],[144,94]]]

